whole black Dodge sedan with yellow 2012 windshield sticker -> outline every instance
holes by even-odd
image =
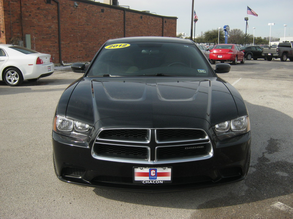
[[[236,182],[250,163],[248,111],[191,40],[108,40],[62,94],[57,177],[80,186],[170,191]]]

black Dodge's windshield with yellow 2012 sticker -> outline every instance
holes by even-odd
[[[183,43],[117,43],[106,45],[87,76],[213,77],[201,51]]]

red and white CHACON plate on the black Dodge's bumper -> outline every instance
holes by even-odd
[[[133,183],[164,184],[172,182],[172,167],[133,167]]]

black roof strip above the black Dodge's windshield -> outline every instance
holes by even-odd
[[[124,37],[118,39],[111,39],[106,44],[113,43],[187,43],[194,44],[189,39],[175,38],[175,37],[163,37],[163,36],[135,36],[135,37]]]

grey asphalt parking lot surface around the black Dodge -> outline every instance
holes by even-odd
[[[154,194],[85,188],[56,178],[52,120],[62,92],[81,74],[57,68],[19,87],[1,81],[0,218],[293,218],[293,62],[245,60],[219,76],[248,107],[248,176],[223,186]]]

